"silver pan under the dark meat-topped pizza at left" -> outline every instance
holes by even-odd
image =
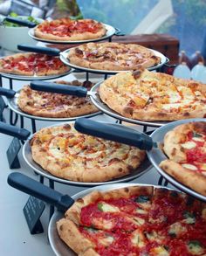
[[[79,116],[74,116],[74,117],[43,117],[43,116],[38,116],[38,115],[32,115],[32,114],[27,114],[23,112],[18,106],[17,106],[17,94],[20,93],[20,90],[17,91],[16,95],[14,98],[9,99],[8,98],[8,106],[12,111],[14,111],[17,114],[20,114],[26,118],[31,118],[35,120],[40,120],[40,121],[74,121],[79,117],[93,117],[98,114],[101,114],[100,111],[95,112],[93,114],[84,114],[84,115],[79,115]]]

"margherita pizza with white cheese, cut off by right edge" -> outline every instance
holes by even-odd
[[[206,121],[181,124],[164,137],[162,170],[206,197]]]

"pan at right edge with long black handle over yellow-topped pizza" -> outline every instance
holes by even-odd
[[[176,188],[187,192],[193,197],[197,197],[206,202],[205,196],[176,181],[174,177],[169,176],[159,167],[161,161],[167,159],[167,156],[165,156],[161,150],[164,135],[166,135],[169,130],[175,128],[176,126],[191,121],[206,121],[206,119],[199,118],[170,122],[161,128],[157,128],[151,136],[142,135],[132,128],[125,128],[124,126],[112,127],[109,124],[86,119],[78,119],[75,122],[74,127],[79,132],[87,135],[94,135],[100,138],[112,140],[114,142],[126,143],[139,149],[148,150],[148,159],[154,165],[154,168],[158,170],[158,172],[164,176],[168,182],[172,183]]]

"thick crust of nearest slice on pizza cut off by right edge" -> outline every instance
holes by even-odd
[[[206,176],[194,170],[183,168],[181,164],[168,159],[162,161],[160,167],[168,173],[168,175],[173,176],[178,182],[206,197]]]

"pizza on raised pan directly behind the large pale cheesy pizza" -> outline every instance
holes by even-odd
[[[150,49],[134,44],[88,43],[70,49],[67,57],[71,64],[107,71],[135,70],[138,65],[158,65],[161,58]]]

